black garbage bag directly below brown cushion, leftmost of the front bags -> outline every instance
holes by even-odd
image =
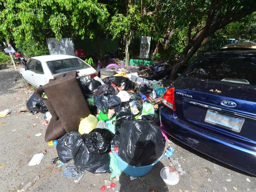
[[[79,132],[69,132],[58,140],[56,150],[62,163],[67,163],[73,159],[72,148],[75,146],[76,141],[80,139],[81,136]]]

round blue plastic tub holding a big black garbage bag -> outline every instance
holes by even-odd
[[[123,159],[121,159],[121,157],[119,157],[115,150],[112,148],[111,146],[111,150],[114,154],[114,156],[116,157],[117,160],[117,164],[119,165],[119,168],[122,170],[122,172],[124,172],[126,175],[132,176],[132,177],[141,177],[143,175],[148,174],[148,172],[151,171],[151,169],[153,168],[153,166],[155,164],[158,163],[158,161],[160,161],[160,159],[162,159],[162,157],[164,156],[161,155],[161,157],[159,159],[157,159],[153,164],[151,165],[146,165],[146,166],[141,166],[141,167],[135,167],[132,165],[129,165],[128,163],[124,162]]]

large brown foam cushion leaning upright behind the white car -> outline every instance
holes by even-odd
[[[76,71],[60,74],[43,86],[66,132],[78,131],[80,119],[91,114],[76,76]]]

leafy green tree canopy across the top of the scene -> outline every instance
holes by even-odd
[[[110,36],[119,39],[127,65],[140,37],[151,36],[151,58],[169,60],[174,78],[181,65],[228,38],[256,40],[254,11],[252,0],[0,0],[0,38],[18,46],[91,38],[100,52],[98,38]]]

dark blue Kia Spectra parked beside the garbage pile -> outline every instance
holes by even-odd
[[[164,132],[256,175],[256,51],[205,53],[162,101]]]

